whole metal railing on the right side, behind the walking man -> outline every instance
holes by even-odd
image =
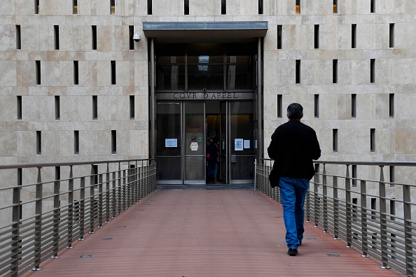
[[[374,257],[381,268],[415,276],[416,162],[314,164],[307,221],[358,249],[362,257]],[[268,180],[272,165],[271,159],[256,160],[255,186],[281,203],[279,188],[270,187]]]

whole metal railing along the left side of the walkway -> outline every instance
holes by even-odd
[[[153,192],[156,163],[0,164],[0,182],[0,276],[21,276]]]

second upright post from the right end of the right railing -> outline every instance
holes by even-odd
[[[380,166],[380,182],[379,182],[379,193],[380,193],[380,247],[381,247],[381,261],[382,269],[390,269],[387,261],[389,260],[389,252],[387,248],[387,204],[386,204],[386,183],[384,183],[384,166]]]

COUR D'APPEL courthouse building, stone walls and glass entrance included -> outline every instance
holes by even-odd
[[[0,164],[252,183],[286,107],[323,160],[416,160],[415,0],[2,0]],[[394,170],[387,172],[394,174]]]

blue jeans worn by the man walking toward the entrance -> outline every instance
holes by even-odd
[[[286,227],[286,244],[288,248],[297,249],[303,239],[305,220],[305,197],[309,188],[307,179],[280,177],[280,197],[283,205],[284,227]]]

